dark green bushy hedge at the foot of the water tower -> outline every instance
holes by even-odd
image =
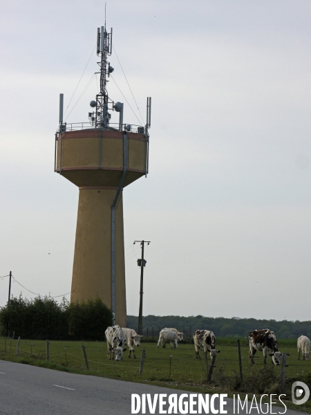
[[[0,308],[1,335],[33,340],[104,340],[113,314],[100,298],[59,304],[51,297],[12,297]]]

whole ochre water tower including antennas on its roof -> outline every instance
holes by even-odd
[[[113,68],[112,29],[97,29],[100,91],[91,101],[88,122],[63,120],[64,95],[59,100],[55,136],[55,172],[79,187],[71,302],[100,297],[111,307],[115,323],[126,326],[123,188],[148,174],[151,98],[145,126],[123,123],[123,104],[106,90]],[[111,112],[119,122],[113,124]]]

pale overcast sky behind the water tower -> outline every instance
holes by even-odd
[[[307,0],[107,1],[114,80],[138,118],[117,57],[143,118],[152,97],[150,174],[124,190],[129,314],[145,239],[144,315],[311,319],[310,17]],[[0,277],[62,295],[79,191],[53,169],[59,93],[91,57],[66,111],[87,121],[104,2],[1,1],[0,19]]]

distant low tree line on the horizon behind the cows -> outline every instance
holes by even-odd
[[[270,329],[276,333],[276,338],[282,339],[296,339],[300,335],[307,335],[311,337],[311,321],[295,322],[282,320],[257,320],[255,318],[224,318],[224,317],[203,317],[197,315],[196,317],[180,317],[178,315],[147,315],[142,319],[143,331],[153,327],[155,330],[163,327],[175,327],[179,331],[185,332],[189,335],[198,329],[206,329],[214,331],[216,337],[223,338],[241,338],[247,337],[249,331],[255,329]],[[138,326],[138,317],[134,315],[127,316],[127,326],[135,329]],[[157,333],[157,331],[155,331]],[[192,334],[191,334],[192,335]]]

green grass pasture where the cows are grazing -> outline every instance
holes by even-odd
[[[86,347],[89,370],[86,370],[82,344]],[[220,388],[222,391],[228,392],[238,390],[234,387],[234,378],[239,378],[236,339],[217,339],[217,349],[220,350],[220,353],[218,353],[212,382],[209,385],[207,385],[205,380],[207,364],[211,360],[208,357],[207,362],[205,362],[202,352],[200,353],[202,360],[196,360],[194,344],[189,343],[180,343],[178,349],[171,349],[168,344],[165,349],[162,349],[162,347],[158,349],[156,342],[142,342],[140,347],[135,348],[137,359],[129,359],[127,357],[128,351],[126,351],[124,352],[123,360],[120,362],[107,358],[105,342],[50,341],[49,362],[46,362],[46,341],[20,340],[19,356],[16,356],[16,349],[17,340],[6,340],[5,351],[4,338],[1,338],[0,359],[14,360],[74,373],[118,378],[120,380],[154,382],[153,384],[161,384],[178,389],[198,390],[199,388],[202,391],[202,389]],[[128,348],[126,347],[126,349]],[[139,376],[142,349],[146,351],[146,358],[142,376]],[[295,340],[279,340],[279,349],[290,353],[290,356],[287,358],[288,367],[285,372],[289,391],[293,379],[305,380],[308,374],[311,376],[311,360],[297,360]],[[247,382],[247,379],[250,381],[262,378],[263,389],[261,391],[259,386],[259,390],[256,390],[257,393],[278,393],[277,390],[265,390],[265,384],[271,377],[276,381],[279,380],[281,367],[272,366],[271,358],[267,358],[266,366],[263,365],[263,354],[259,352],[256,353],[255,365],[250,365],[246,339],[241,339],[241,355],[245,382]],[[264,366],[267,369],[265,374],[263,374]],[[228,379],[232,381],[228,383]],[[258,385],[256,388],[258,389]],[[254,393],[256,392],[254,391]],[[311,412],[311,403],[308,402],[304,408],[299,407],[298,409]]]

